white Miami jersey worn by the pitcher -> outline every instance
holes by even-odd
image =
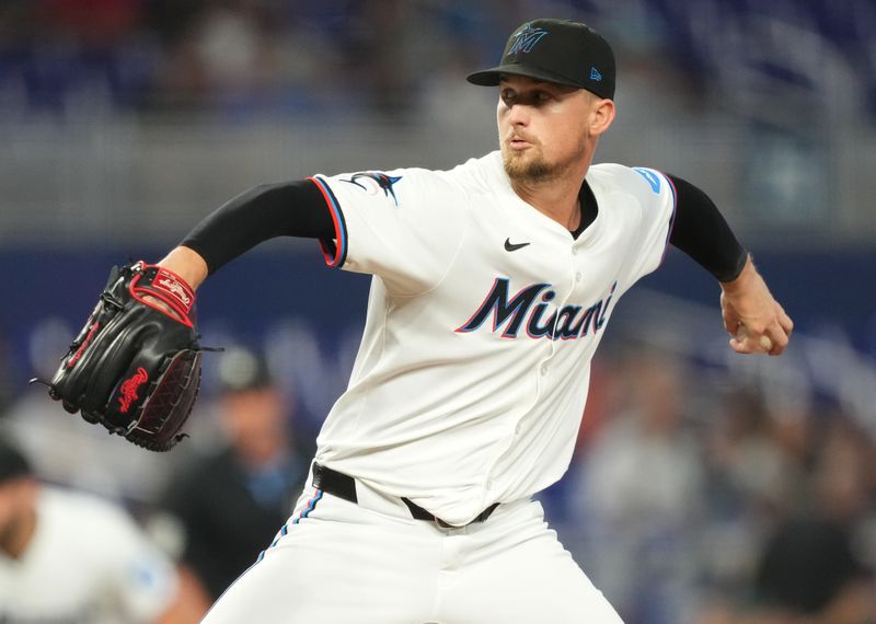
[[[556,482],[611,311],[665,252],[669,178],[591,166],[599,213],[577,240],[515,194],[499,152],[313,181],[326,262],[374,276],[316,461],[453,524]]]

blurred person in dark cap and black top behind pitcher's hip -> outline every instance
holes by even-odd
[[[292,430],[295,403],[261,354],[234,347],[217,367],[220,443],[170,481],[149,524],[178,553],[208,603],[255,563],[291,513],[314,449]],[[170,541],[166,541],[170,540]]]

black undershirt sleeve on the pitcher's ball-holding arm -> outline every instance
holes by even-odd
[[[705,193],[676,175],[669,178],[678,193],[669,242],[719,281],[733,281],[742,271],[748,253]]]

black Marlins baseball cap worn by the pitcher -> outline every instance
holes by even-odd
[[[493,68],[466,77],[472,84],[495,86],[503,74],[577,86],[614,97],[614,53],[587,24],[569,20],[533,20],[518,26]]]

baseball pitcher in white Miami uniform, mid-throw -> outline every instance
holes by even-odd
[[[120,274],[138,280],[123,291],[146,288],[122,314],[148,307],[182,336],[161,357],[135,353],[128,361],[147,363],[117,367],[127,393],[105,383],[94,400],[88,383],[65,383],[82,362],[107,359],[91,357],[103,344],[93,325],[54,380],[68,408],[84,396],[90,419],[122,435],[147,414],[140,435],[159,441],[138,443],[163,450],[194,401],[199,347],[182,330],[204,279],[279,235],[315,239],[330,266],[372,276],[361,347],[309,486],[209,624],[620,622],[532,500],[568,467],[590,361],[619,300],[672,244],[719,282],[730,348],[777,356],[788,343],[791,319],[701,189],[654,169],[592,164],[615,114],[602,36],[534,20],[510,35],[499,65],[468,80],[496,89],[497,151],[450,171],[364,170],[249,190],[158,266]],[[168,330],[158,335],[168,339],[148,344],[170,342]],[[182,396],[170,417],[151,405],[162,385]]]

